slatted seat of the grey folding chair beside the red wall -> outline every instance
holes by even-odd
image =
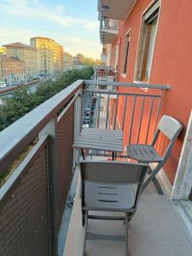
[[[146,144],[131,144],[127,146],[127,155],[129,158],[143,163],[162,161],[155,148]]]

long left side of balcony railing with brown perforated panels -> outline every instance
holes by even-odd
[[[83,84],[71,84],[0,133],[0,255],[58,255]]]

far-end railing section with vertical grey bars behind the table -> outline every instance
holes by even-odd
[[[96,127],[120,129],[124,145],[151,143],[160,115],[164,90],[169,85],[86,81],[84,94],[97,97]]]

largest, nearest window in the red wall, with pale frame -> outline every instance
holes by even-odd
[[[159,9],[160,2],[158,1],[143,15],[143,31],[137,58],[137,80],[143,82],[148,82],[151,71]]]

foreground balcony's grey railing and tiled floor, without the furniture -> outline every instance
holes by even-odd
[[[148,87],[150,93],[142,87]],[[81,255],[80,155],[78,149],[73,149],[73,142],[82,129],[90,97],[96,96],[90,126],[122,130],[126,146],[151,142],[168,89],[166,85],[78,80],[3,130],[0,174],[5,182],[0,189],[0,255],[63,255],[66,236],[64,255]],[[87,158],[108,159],[111,154],[90,150]],[[117,160],[127,161],[125,150]],[[69,193],[75,193],[75,203],[67,229]],[[123,227],[122,223],[112,226],[108,221],[93,220],[90,224],[90,229],[102,233],[120,233]],[[192,251],[172,201],[166,191],[165,195],[157,195],[153,184],[143,193],[131,220],[129,241],[131,256],[191,255]],[[113,256],[121,255],[123,249],[121,243],[100,241],[88,242],[87,252]]]

